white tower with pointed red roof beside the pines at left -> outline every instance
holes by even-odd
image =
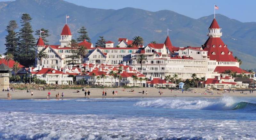
[[[62,29],[62,32],[60,34],[60,47],[70,47],[68,44],[70,43],[72,39],[72,34],[70,32],[70,29],[67,24]]]

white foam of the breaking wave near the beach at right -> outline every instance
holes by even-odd
[[[229,110],[232,109],[235,99],[224,96],[218,101],[209,99],[181,99],[181,98],[164,98],[140,101],[135,106],[172,108],[172,109],[207,109],[207,110]]]

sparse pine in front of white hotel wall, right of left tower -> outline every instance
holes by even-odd
[[[76,42],[76,40],[72,39],[70,41],[70,43],[68,44],[69,47],[71,47],[71,55],[68,55],[66,58],[70,58],[69,60],[66,61],[66,63],[68,65],[74,65],[77,64],[76,61],[78,61],[80,59],[80,56],[77,54],[77,47],[78,47],[78,43]]]

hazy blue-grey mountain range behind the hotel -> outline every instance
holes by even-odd
[[[8,22],[16,20],[19,23],[23,13],[28,13],[33,18],[31,24],[34,31],[49,29],[50,44],[58,44],[66,15],[70,17],[68,25],[75,39],[79,28],[85,26],[94,44],[99,36],[116,42],[116,45],[118,38],[132,39],[139,35],[143,37],[146,46],[151,41],[164,43],[168,27],[172,30],[169,32],[172,45],[176,47],[203,45],[213,19],[213,15],[193,19],[169,10],[151,12],[129,7],[118,10],[88,8],[63,0],[0,2],[0,53],[5,51],[4,37]],[[221,14],[216,14],[216,19],[222,28],[222,40],[233,51],[234,56],[243,61],[241,67],[255,69],[256,22],[243,23]]]

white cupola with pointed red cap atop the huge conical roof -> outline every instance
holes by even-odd
[[[207,35],[209,37],[220,37],[222,36],[222,32],[220,26],[218,25],[218,22],[216,19],[213,19],[211,26],[209,27],[209,33]]]

